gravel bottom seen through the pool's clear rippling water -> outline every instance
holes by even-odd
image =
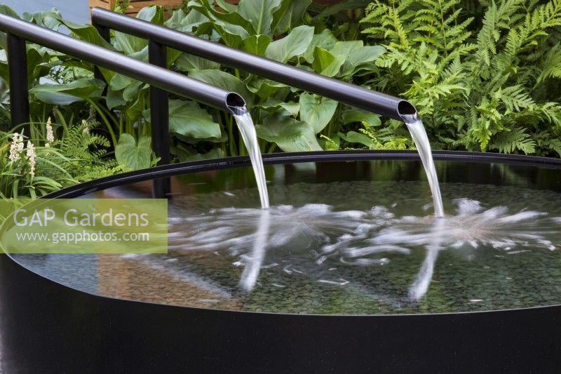
[[[90,293],[293,314],[471,312],[561,303],[561,194],[426,182],[271,185],[175,196],[165,255],[17,255]]]

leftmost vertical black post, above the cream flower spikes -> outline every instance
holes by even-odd
[[[10,112],[12,128],[29,123],[29,87],[27,82],[27,50],[25,39],[8,33],[8,72],[10,75]],[[22,125],[20,133],[30,136],[29,125]]]

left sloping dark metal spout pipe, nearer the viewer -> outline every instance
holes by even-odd
[[[53,48],[100,67],[130,76],[133,79],[144,81],[151,86],[156,86],[165,91],[173,92],[227,112],[230,112],[229,104],[232,100],[243,102],[243,98],[237,93],[225,91],[222,88],[171,72],[163,67],[156,67],[146,62],[129,58],[121,53],[109,51],[107,48],[95,46],[86,41],[60,34],[59,32],[13,18],[9,15],[0,14],[0,30],[18,36],[20,39]],[[27,87],[25,87],[25,90],[27,91]],[[20,100],[18,100],[18,103],[20,103]],[[12,105],[15,104],[14,102],[12,103]]]

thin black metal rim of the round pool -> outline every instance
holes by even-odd
[[[542,166],[548,168],[555,168],[561,170],[561,159],[553,159],[548,157],[537,156],[520,156],[513,154],[492,154],[481,152],[451,152],[451,151],[437,151],[433,153],[434,159],[438,161],[468,161],[468,162],[481,162],[481,163],[507,163],[525,166]],[[321,152],[287,152],[276,154],[264,154],[263,161],[266,165],[279,164],[279,163],[305,163],[305,162],[329,162],[329,161],[372,161],[372,160],[420,160],[417,151],[321,151]],[[171,165],[156,166],[154,168],[147,168],[118,175],[112,175],[106,178],[91,180],[79,185],[60,189],[58,192],[53,192],[43,197],[43,199],[72,199],[75,197],[91,194],[103,189],[126,185],[129,183],[143,182],[154,178],[165,178],[173,175],[197,173],[201,171],[216,171],[227,168],[243,168],[250,167],[251,161],[248,156],[226,157],[222,159],[210,159],[205,161],[191,161],[184,163],[175,163]],[[9,255],[8,255],[9,256]],[[11,256],[9,256],[11,257]],[[13,258],[12,258],[13,259]],[[13,259],[14,260],[14,259]],[[17,260],[14,260],[16,263]],[[18,263],[18,265],[20,265]],[[22,265],[20,265],[22,266]],[[22,266],[24,267],[24,266]],[[25,267],[24,267],[25,268]],[[27,269],[27,268],[26,268]],[[29,269],[28,269],[29,270]],[[31,270],[30,270],[31,271]],[[53,281],[58,283],[52,279]],[[60,283],[58,283],[60,284]],[[60,284],[62,287],[67,287]],[[70,288],[70,287],[67,287]],[[74,288],[71,288],[74,290]],[[76,290],[78,292],[83,292]],[[86,292],[84,292],[86,293]],[[89,294],[89,293],[86,293]],[[97,298],[107,298],[111,300],[121,300],[127,302],[140,302],[149,305],[161,305],[151,302],[142,302],[137,300],[125,300],[119,298],[111,298],[106,296],[93,295]],[[196,307],[183,307],[177,305],[161,305],[162,307],[177,307],[187,309],[201,309],[201,310],[215,310],[217,312],[234,312],[234,313],[259,313],[259,314],[285,314],[285,313],[272,313],[272,312],[246,312],[236,311],[231,309],[213,309],[213,308],[196,308]],[[473,314],[473,313],[496,313],[496,312],[514,312],[529,309],[555,309],[561,312],[560,305],[547,305],[539,307],[523,307],[512,309],[497,309],[478,312],[450,312],[450,313],[431,313],[431,314],[348,314],[346,316],[424,316],[424,315],[451,315],[451,314]],[[292,315],[292,314],[285,314]],[[298,314],[300,316],[340,316],[339,314]]]

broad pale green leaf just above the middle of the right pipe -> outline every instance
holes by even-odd
[[[287,62],[290,58],[306,52],[313,38],[313,27],[299,26],[292,29],[283,39],[273,41],[267,47],[265,57]]]

